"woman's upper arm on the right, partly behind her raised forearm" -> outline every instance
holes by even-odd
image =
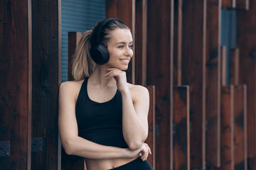
[[[134,86],[132,94],[134,111],[137,113],[144,128],[148,130],[147,117],[149,114],[149,91],[144,86]]]

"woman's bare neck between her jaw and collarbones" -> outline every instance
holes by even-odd
[[[90,84],[97,84],[102,87],[108,86],[111,84],[116,84],[114,78],[107,79],[105,74],[107,74],[107,67],[105,65],[96,65],[95,69],[93,70],[92,74],[90,75]]]

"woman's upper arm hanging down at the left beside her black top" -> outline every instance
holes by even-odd
[[[58,106],[58,128],[60,139],[65,147],[68,140],[78,136],[78,123],[75,116],[75,86],[72,82],[60,85]]]

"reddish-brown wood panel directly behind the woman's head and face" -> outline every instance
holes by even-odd
[[[131,29],[132,38],[135,40],[135,0],[107,0],[106,1],[106,17],[119,18]],[[134,52],[134,55],[136,52]],[[136,56],[134,56],[136,57]],[[129,63],[127,69],[127,81],[135,83],[135,59],[132,57],[132,62]]]

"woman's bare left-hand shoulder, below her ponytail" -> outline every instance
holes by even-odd
[[[69,96],[76,99],[78,97],[83,81],[84,80],[63,82],[60,84],[60,96]]]

